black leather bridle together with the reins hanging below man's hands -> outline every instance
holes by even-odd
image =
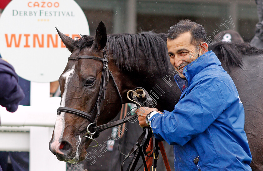
[[[105,96],[106,96],[106,87],[107,87],[107,84],[109,82],[109,77],[112,78],[112,81],[114,83],[114,86],[116,87],[116,90],[118,92],[118,95],[121,99],[121,104],[122,104],[122,97],[121,97],[121,93],[119,91],[119,88],[115,82],[115,79],[113,77],[113,74],[111,73],[111,71],[109,70],[109,67],[108,67],[108,59],[106,58],[107,57],[107,54],[105,52],[105,49],[103,48],[103,58],[99,58],[99,57],[95,57],[95,56],[88,56],[88,55],[85,55],[85,56],[78,56],[78,57],[69,57],[68,60],[75,60],[75,59],[80,59],[80,58],[87,58],[87,59],[95,59],[95,60],[100,60],[102,61],[103,63],[103,66],[102,66],[102,74],[101,74],[101,84],[100,84],[100,92],[99,92],[99,95],[98,95],[98,98],[97,98],[97,101],[95,103],[95,107],[93,108],[91,114],[89,113],[86,113],[86,112],[83,112],[81,110],[77,110],[77,109],[74,109],[74,108],[68,108],[68,107],[59,107],[58,108],[58,112],[57,114],[59,115],[61,112],[66,112],[66,113],[72,113],[72,114],[75,114],[75,115],[78,115],[78,116],[81,116],[83,118],[86,118],[90,121],[90,124],[87,126],[87,129],[86,129],[86,134],[84,135],[84,137],[88,138],[89,140],[92,140],[92,141],[95,141],[97,143],[97,145],[93,145],[93,146],[89,146],[89,147],[97,147],[99,145],[99,143],[93,138],[93,135],[95,133],[100,133],[101,131],[105,130],[105,129],[108,129],[108,128],[112,128],[112,127],[115,127],[117,125],[120,125],[120,124],[123,124],[123,123],[126,123],[127,121],[130,121],[131,119],[137,117],[137,115],[130,115],[130,116],[127,116],[124,118],[124,119],[120,119],[120,120],[117,120],[117,121],[114,121],[114,122],[111,122],[111,123],[106,123],[106,124],[103,124],[103,125],[100,125],[100,126],[97,126],[96,123],[97,123],[97,120],[98,120],[98,117],[100,116],[100,109],[101,109],[101,102],[103,100],[105,100]],[[142,94],[138,94],[136,91],[143,91],[144,93]],[[129,91],[130,92],[130,91]],[[127,93],[127,98],[129,100],[131,100],[129,98],[129,92]],[[142,102],[142,98],[144,98],[146,96],[146,90],[144,90],[143,88],[139,88],[137,90],[134,90],[134,91],[131,91],[133,92],[133,99],[134,100],[131,100],[133,102],[135,102],[138,106],[141,106],[141,104],[143,104]],[[137,98],[135,98],[135,96],[137,95]],[[140,99],[140,102],[138,101],[138,99]],[[152,98],[149,96],[149,94],[147,93],[147,100],[150,101],[152,104]],[[148,105],[148,103],[147,103]],[[147,106],[149,107],[149,106]],[[152,106],[151,106],[152,107]],[[97,108],[97,109],[96,109]],[[94,125],[93,129],[94,129],[94,132],[91,133],[89,128],[91,125]],[[148,155],[147,152],[146,152],[146,145],[148,144],[147,142],[150,141],[150,138],[153,138],[153,149],[152,149],[152,154]],[[156,143],[157,142],[157,143]],[[129,164],[129,167],[127,168],[127,170],[131,171],[131,170],[134,170],[135,167],[136,167],[136,164],[139,160],[139,158],[142,157],[143,159],[143,165],[144,165],[144,168],[145,170],[148,170],[147,169],[147,163],[146,163],[146,160],[144,159],[144,155],[147,156],[147,157],[152,157],[154,158],[154,163],[153,163],[153,166],[152,166],[152,169],[153,168],[156,168],[156,163],[157,163],[157,159],[158,159],[158,150],[160,148],[158,147],[158,141],[155,139],[155,137],[153,136],[153,133],[152,133],[152,130],[147,127],[147,128],[144,128],[143,130],[143,133],[142,135],[138,138],[136,144],[133,146],[133,148],[131,149],[131,151],[126,155],[125,159],[123,160],[123,162],[121,163],[121,170],[123,170],[123,164],[126,160],[126,158],[128,157],[131,157],[131,154],[134,153],[134,157],[133,159],[131,160],[130,164]],[[163,149],[164,151],[164,149]],[[165,154],[166,155],[166,154]],[[166,157],[167,158],[167,157]],[[168,160],[167,160],[168,161]],[[166,168],[170,168],[169,164],[168,164],[168,167]]]

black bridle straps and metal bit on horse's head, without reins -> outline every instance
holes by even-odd
[[[78,116],[81,116],[83,118],[86,118],[90,121],[90,124],[88,125],[86,131],[86,135],[84,135],[84,137],[90,139],[90,140],[93,140],[97,143],[98,145],[98,142],[92,138],[92,136],[95,134],[95,133],[99,133],[101,130],[104,130],[104,127],[97,127],[97,120],[98,120],[98,117],[100,116],[101,114],[101,104],[102,104],[102,101],[105,100],[105,96],[106,96],[106,87],[107,87],[107,84],[109,82],[109,77],[112,78],[112,81],[114,83],[114,86],[116,87],[116,90],[118,92],[118,95],[121,99],[121,104],[122,104],[122,97],[121,97],[121,93],[119,91],[119,88],[116,84],[116,81],[113,77],[113,74],[111,73],[111,71],[109,70],[109,66],[108,66],[108,59],[107,59],[108,55],[106,54],[106,51],[105,51],[105,48],[103,48],[103,58],[100,58],[100,57],[95,57],[95,56],[89,56],[89,55],[84,55],[84,56],[75,56],[75,57],[69,57],[68,60],[75,60],[75,59],[81,59],[81,58],[87,58],[87,59],[95,59],[95,60],[99,60],[99,61],[102,61],[102,74],[101,74],[101,84],[100,84],[100,92],[99,92],[99,95],[98,95],[98,98],[97,98],[97,101],[95,103],[95,107],[93,108],[92,112],[91,113],[86,113],[86,112],[83,112],[81,110],[78,110],[78,109],[74,109],[74,108],[69,108],[69,107],[59,107],[58,108],[58,112],[57,114],[59,115],[61,112],[66,112],[66,113],[72,113],[72,114],[75,114],[75,115],[78,115]],[[89,130],[89,127],[91,125],[94,125],[94,128],[97,127],[97,129],[95,129],[95,131],[93,133],[90,132]],[[101,125],[103,126],[103,125]],[[111,125],[109,125],[111,126]],[[111,128],[111,127],[108,127],[108,128]],[[95,146],[89,146],[89,147],[96,147],[97,145]]]

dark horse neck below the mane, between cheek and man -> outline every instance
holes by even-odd
[[[131,103],[126,94],[129,90],[137,87],[142,87],[149,93],[157,102],[155,108],[159,110],[173,110],[180,98],[181,91],[172,76],[174,71],[172,66],[169,72],[163,72],[160,68],[154,67],[151,70],[141,67],[140,71],[125,71],[119,69],[114,63],[109,64],[109,67],[112,68],[112,73],[120,90],[122,103]],[[169,82],[165,81],[169,79]]]

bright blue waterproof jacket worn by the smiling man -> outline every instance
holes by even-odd
[[[243,104],[214,52],[189,63],[183,74],[186,87],[174,110],[149,119],[154,136],[174,145],[175,170],[251,170]]]

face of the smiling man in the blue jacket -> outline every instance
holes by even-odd
[[[191,44],[191,38],[191,33],[185,32],[166,42],[170,62],[181,78],[185,78],[183,68],[198,57],[199,46]]]

